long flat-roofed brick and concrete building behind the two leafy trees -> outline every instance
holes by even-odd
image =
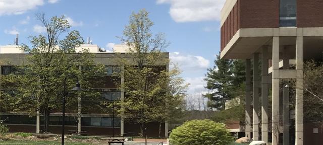
[[[18,39],[17,39],[18,41]],[[125,47],[124,45],[122,45]],[[106,67],[106,76],[99,86],[96,86],[93,89],[99,90],[101,96],[105,100],[115,101],[120,98],[124,99],[124,91],[118,90],[114,81],[116,78],[113,78],[112,74],[114,71],[122,70],[115,69],[119,66],[116,61],[113,61],[116,58],[115,52],[99,52],[99,46],[95,44],[83,44],[76,48],[76,52],[81,51],[82,49],[87,49],[90,53],[95,54],[94,61],[97,64],[103,64]],[[119,49],[118,49],[119,50]],[[20,49],[20,46],[16,45],[7,45],[0,47],[0,83],[1,76],[8,75],[15,71],[15,65],[24,65],[26,62],[26,56],[31,55],[24,53]],[[129,57],[125,51],[120,51],[121,56],[124,58]],[[165,58],[169,58],[169,53],[164,53]],[[166,66],[168,67],[168,66]],[[79,69],[82,70],[82,66],[79,66]],[[82,70],[83,71],[83,70]],[[121,77],[121,83],[124,82],[124,77]],[[87,101],[81,100],[78,98],[78,112],[81,116],[77,116],[77,112],[69,112],[67,110],[65,124],[66,124],[66,133],[68,130],[77,130],[77,131],[86,131],[86,134],[89,135],[115,135],[115,136],[134,136],[139,135],[140,125],[127,122],[127,118],[121,114],[116,114],[113,116],[113,113],[102,112],[95,107],[99,104],[100,101]],[[93,106],[90,110],[82,110],[80,106],[89,105]],[[10,127],[10,132],[33,132],[40,133],[44,124],[43,124],[43,115],[39,112],[35,112],[35,116],[29,116],[28,113],[24,112],[6,112],[0,106],[0,119],[9,118],[4,123]],[[76,121],[79,119],[79,121]],[[62,122],[62,113],[60,111],[52,111],[49,119],[49,132],[51,133],[61,133],[61,122]],[[114,121],[114,123],[112,123]],[[114,124],[114,126],[112,126]],[[150,122],[147,124],[148,135],[149,136],[159,136],[159,123]],[[168,123],[161,124],[161,136],[168,136]],[[166,130],[165,130],[166,129]]]

